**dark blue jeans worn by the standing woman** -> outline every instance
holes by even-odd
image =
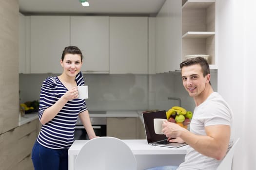
[[[35,170],[68,170],[68,149],[50,149],[36,141],[32,162]]]

